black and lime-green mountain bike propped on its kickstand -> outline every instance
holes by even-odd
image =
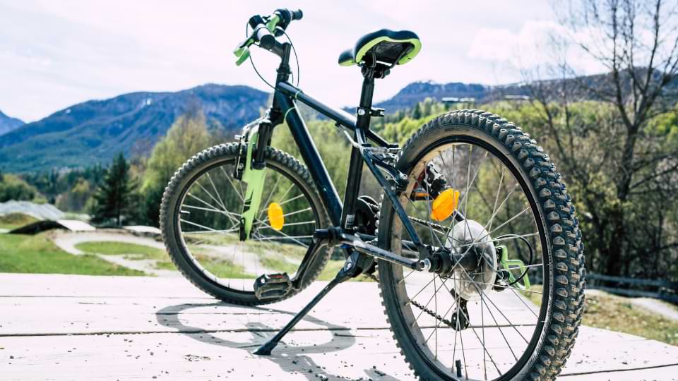
[[[278,40],[301,18],[279,9],[249,20],[237,64],[251,47],[280,57],[273,102],[237,141],[199,152],[169,181],[160,222],[174,264],[206,293],[255,306],[294,296],[332,253],[343,255],[331,282],[258,355],[335,286],[369,274],[419,377],[556,377],[581,322],[585,270],[575,207],[549,155],[521,127],[477,109],[435,117],[402,147],[388,142],[370,128],[384,115],[372,107],[375,80],[417,56],[417,35],[382,29],[340,54],[363,76],[354,116],[290,82],[294,46]],[[350,143],[343,199],[299,103]],[[304,164],[270,147],[283,123]],[[363,166],[379,201],[359,194]]]

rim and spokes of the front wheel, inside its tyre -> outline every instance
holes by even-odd
[[[174,226],[182,255],[196,272],[230,291],[253,294],[261,274],[292,277],[320,225],[306,188],[277,163],[267,162],[267,168],[261,207],[246,241],[239,241],[246,183],[233,177],[234,159],[192,176],[177,202]],[[284,212],[280,230],[268,221],[273,202]]]

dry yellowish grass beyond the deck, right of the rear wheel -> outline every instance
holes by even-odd
[[[542,286],[535,285],[530,290],[541,292]],[[521,294],[535,305],[541,305],[541,294],[525,291],[521,291]],[[586,295],[584,316],[581,322],[590,327],[635,334],[647,339],[678,345],[678,322],[645,308],[634,306],[630,300],[631,298],[607,294],[602,291],[600,294],[588,294]]]

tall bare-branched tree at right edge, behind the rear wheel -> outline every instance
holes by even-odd
[[[544,127],[538,135],[549,138],[549,152],[575,188],[590,268],[656,277],[678,248],[669,219],[678,147],[667,123],[676,111],[676,8],[662,0],[576,3],[560,8],[571,32],[554,39],[562,58],[552,74],[561,79],[530,81],[533,126]],[[566,59],[571,43],[607,73],[578,76]]]

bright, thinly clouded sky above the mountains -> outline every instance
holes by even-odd
[[[357,104],[362,76],[337,59],[362,35],[412,30],[422,51],[376,84],[375,101],[417,80],[501,85],[545,59],[559,28],[552,3],[514,1],[86,1],[0,0],[0,110],[37,121],[72,104],[126,92],[177,91],[202,85],[270,90],[232,54],[254,14],[301,8],[287,28],[297,53],[299,86],[327,104]],[[252,53],[275,79],[277,57]],[[581,59],[585,71],[595,71]]]

